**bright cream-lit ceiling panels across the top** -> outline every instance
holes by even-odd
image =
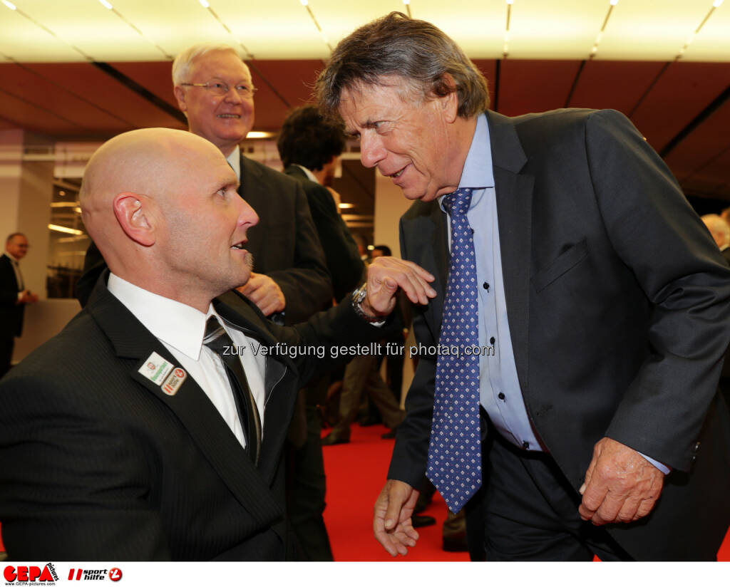
[[[596,60],[730,61],[730,1],[721,0],[1,1],[0,62],[164,61],[201,41],[239,44],[248,58],[326,59],[393,10],[437,24],[473,59],[504,57],[509,11],[509,58],[588,59],[604,28]]]

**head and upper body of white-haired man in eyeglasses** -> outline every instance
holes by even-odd
[[[249,236],[255,272],[240,291],[266,316],[287,324],[325,308],[331,281],[304,192],[239,150],[254,117],[246,64],[228,45],[196,44],[175,58],[172,82],[189,130],[220,149],[241,182],[239,195],[261,218]]]

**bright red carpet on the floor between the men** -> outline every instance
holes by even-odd
[[[326,434],[328,430],[323,432]],[[352,427],[350,443],[325,446],[327,508],[324,521],[336,561],[389,561],[392,557],[372,535],[372,506],[383,489],[393,440],[383,440],[382,426]],[[420,538],[404,561],[467,561],[467,553],[447,553],[441,549],[441,524],[446,505],[436,494],[424,512],[437,519],[435,526],[418,530]],[[730,561],[730,529],[718,552],[719,561]]]

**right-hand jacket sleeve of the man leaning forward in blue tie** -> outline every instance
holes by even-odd
[[[626,117],[591,114],[585,149],[608,238],[652,305],[650,355],[606,435],[688,470],[730,336],[730,271]]]

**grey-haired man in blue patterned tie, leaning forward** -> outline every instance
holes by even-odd
[[[615,111],[492,112],[458,45],[401,13],[343,39],[317,90],[415,201],[401,255],[436,276],[377,540],[415,545],[427,475],[477,559],[714,559],[730,271],[641,133]]]

